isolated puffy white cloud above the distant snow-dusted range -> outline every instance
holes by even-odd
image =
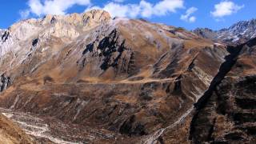
[[[238,6],[231,1],[222,1],[214,6],[214,11],[211,11],[210,14],[215,18],[222,18],[224,16],[237,13],[238,10],[241,10],[243,7],[244,5]]]

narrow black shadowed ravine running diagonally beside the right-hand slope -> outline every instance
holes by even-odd
[[[226,77],[226,74],[230,72],[234,64],[237,62],[238,55],[240,54],[242,47],[245,46],[245,44],[239,45],[239,46],[228,46],[227,50],[230,53],[226,56],[226,61],[222,63],[222,66],[220,66],[220,69],[218,70],[218,74],[214,77],[213,81],[210,83],[210,86],[208,90],[202,95],[201,98],[198,99],[198,102],[194,104],[195,107],[195,114],[192,118],[191,124],[190,124],[190,140],[192,143],[200,143],[202,142],[202,139],[198,139],[197,136],[194,136],[196,133],[194,123],[198,119],[198,114],[202,111],[203,108],[205,108],[206,104],[209,103],[211,96],[214,93],[214,90],[216,90],[217,86],[222,82],[222,80]],[[214,104],[213,104],[214,105]],[[214,119],[215,121],[215,119]],[[212,131],[213,128],[210,128],[210,131]],[[211,133],[211,132],[209,132]],[[210,141],[209,138],[204,138],[206,141]]]

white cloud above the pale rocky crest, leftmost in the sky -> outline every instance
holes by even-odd
[[[29,0],[28,10],[20,12],[21,17],[35,14],[38,17],[44,14],[66,14],[66,10],[74,5],[89,6],[90,0]]]

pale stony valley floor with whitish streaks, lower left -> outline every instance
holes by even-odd
[[[21,127],[26,134],[30,134],[42,143],[76,144],[88,143],[94,140],[96,135],[97,137],[114,137],[112,134],[104,134],[88,127],[74,124],[71,126],[54,118],[38,118],[33,114],[14,112],[4,108],[0,108],[0,112]]]

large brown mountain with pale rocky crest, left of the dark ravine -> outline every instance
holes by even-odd
[[[38,142],[211,142],[198,123],[212,118],[202,113],[214,90],[227,74],[254,74],[239,71],[254,67],[249,57],[244,69],[236,59],[254,44],[102,10],[18,22],[0,36],[1,112]]]

